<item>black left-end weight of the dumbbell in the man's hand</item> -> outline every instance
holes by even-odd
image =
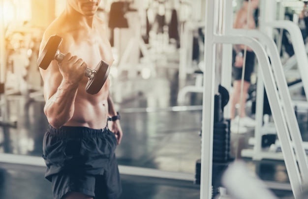
[[[52,35],[49,37],[44,49],[37,59],[37,65],[46,70],[50,62],[55,58],[57,50],[62,42],[62,37]]]

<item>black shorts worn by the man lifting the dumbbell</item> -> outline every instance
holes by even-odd
[[[78,192],[95,199],[117,199],[122,186],[116,147],[117,139],[107,127],[49,126],[43,140],[43,158],[54,198]]]

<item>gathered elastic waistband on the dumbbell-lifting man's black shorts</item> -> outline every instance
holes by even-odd
[[[59,138],[93,138],[102,136],[108,130],[107,127],[103,129],[92,129],[83,126],[62,126],[59,129],[48,126],[48,132],[52,136]]]

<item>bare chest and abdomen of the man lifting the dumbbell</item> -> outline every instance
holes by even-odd
[[[63,38],[62,45],[65,45],[67,49],[67,52],[62,52],[60,46],[59,49],[62,53],[71,53],[73,56],[80,57],[87,63],[89,68],[95,69],[101,60],[111,65],[113,56],[106,32],[103,32],[103,27],[97,19],[94,19],[93,27],[95,28],[89,30],[87,28],[72,26],[68,20],[60,16],[50,28],[61,30],[57,34]],[[86,126],[93,129],[104,128],[106,126],[108,115],[107,97],[110,85],[109,78],[101,90],[95,95],[90,95],[86,92],[85,88],[87,83],[87,77],[84,77],[79,83],[74,104],[74,114],[64,124],[65,126]]]

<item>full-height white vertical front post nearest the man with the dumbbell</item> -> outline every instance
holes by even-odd
[[[213,128],[214,128],[214,87],[215,87],[215,48],[214,48],[214,0],[205,0],[205,48],[202,104],[201,139],[201,189],[200,199],[210,199],[212,191]]]

